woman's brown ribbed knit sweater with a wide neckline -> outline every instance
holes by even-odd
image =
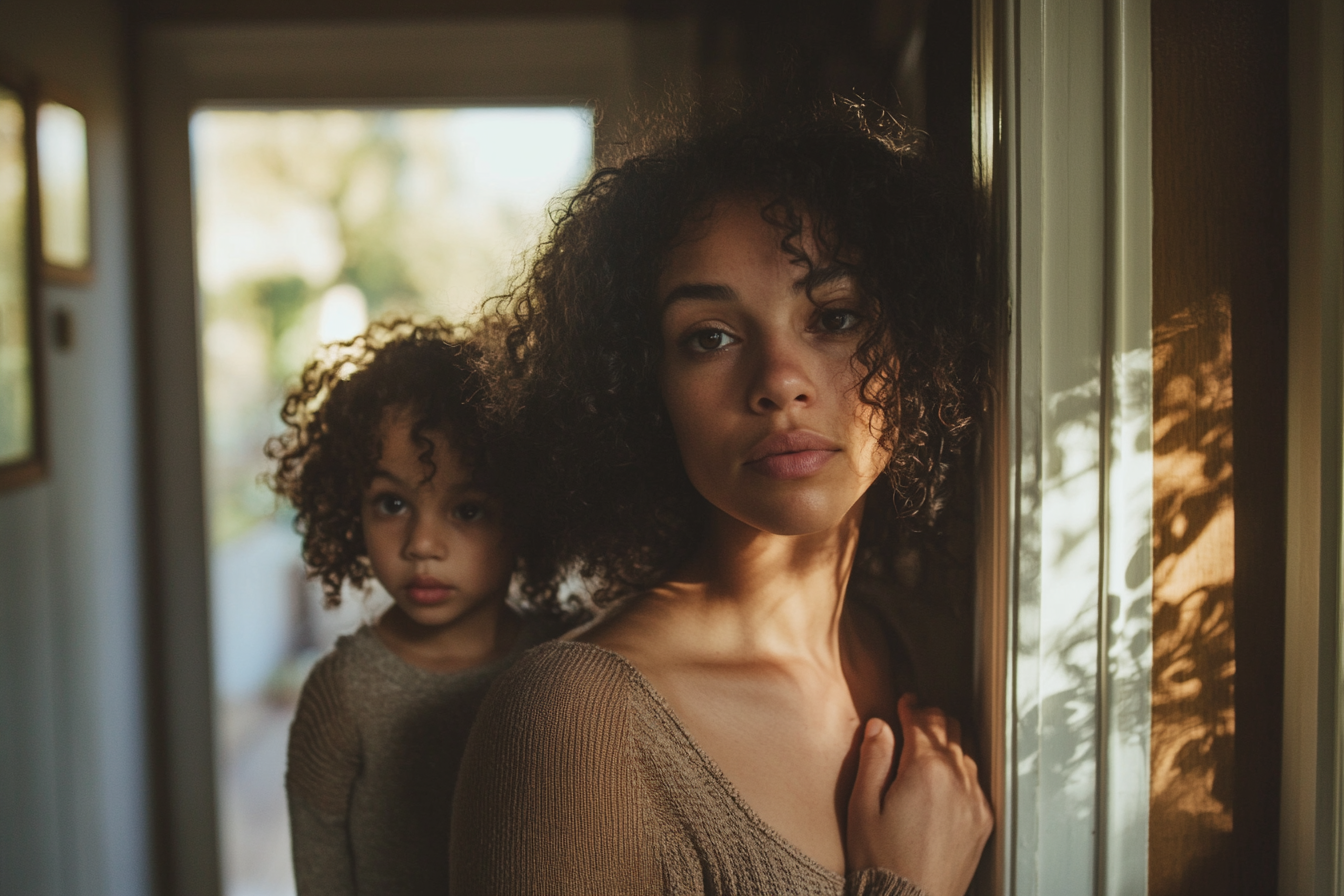
[[[453,896],[923,896],[841,877],[743,802],[649,681],[581,642],[531,650],[487,697],[453,809]]]

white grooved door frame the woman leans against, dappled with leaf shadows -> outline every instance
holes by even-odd
[[[1148,0],[977,0],[973,121],[1007,309],[985,445],[981,892],[1146,892]],[[1064,545],[1068,545],[1067,548]],[[1090,711],[1089,711],[1090,708]]]

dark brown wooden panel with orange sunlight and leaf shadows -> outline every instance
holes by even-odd
[[[1152,26],[1149,892],[1259,896],[1284,693],[1288,9],[1183,0]]]

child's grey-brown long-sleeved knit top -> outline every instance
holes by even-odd
[[[448,891],[457,767],[487,688],[558,634],[524,623],[508,656],[426,672],[370,626],[317,661],[289,728],[285,791],[301,896]]]

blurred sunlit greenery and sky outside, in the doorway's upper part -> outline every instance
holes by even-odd
[[[191,125],[211,543],[288,516],[259,484],[302,365],[386,314],[473,316],[589,173],[586,107],[203,110]]]

